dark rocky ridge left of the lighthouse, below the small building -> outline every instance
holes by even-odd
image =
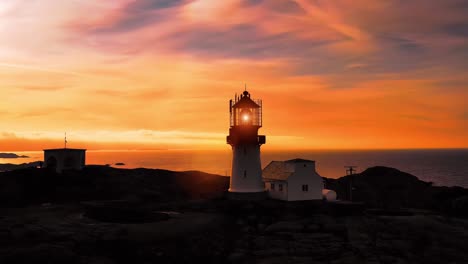
[[[229,178],[199,171],[87,166],[57,174],[28,168],[0,173],[0,206],[131,199],[141,203],[222,197]]]

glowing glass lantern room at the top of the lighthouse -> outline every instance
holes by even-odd
[[[239,97],[229,101],[230,125],[262,126],[262,100],[251,99],[250,93],[244,91]]]

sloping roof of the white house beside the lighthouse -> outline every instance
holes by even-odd
[[[262,177],[268,180],[287,180],[296,169],[296,163],[315,163],[313,160],[306,159],[291,159],[285,161],[272,161],[262,172]]]

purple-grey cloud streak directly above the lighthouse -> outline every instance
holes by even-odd
[[[269,34],[249,24],[228,28],[192,26],[168,36],[174,50],[213,58],[297,59],[312,56],[317,47],[346,41],[344,36],[331,39],[306,39],[294,33]]]

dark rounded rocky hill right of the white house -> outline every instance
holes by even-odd
[[[364,202],[369,207],[398,209],[422,208],[466,215],[468,189],[433,186],[416,176],[388,167],[372,167],[362,173],[339,179],[325,179],[337,199]],[[352,190],[351,190],[352,189]]]

